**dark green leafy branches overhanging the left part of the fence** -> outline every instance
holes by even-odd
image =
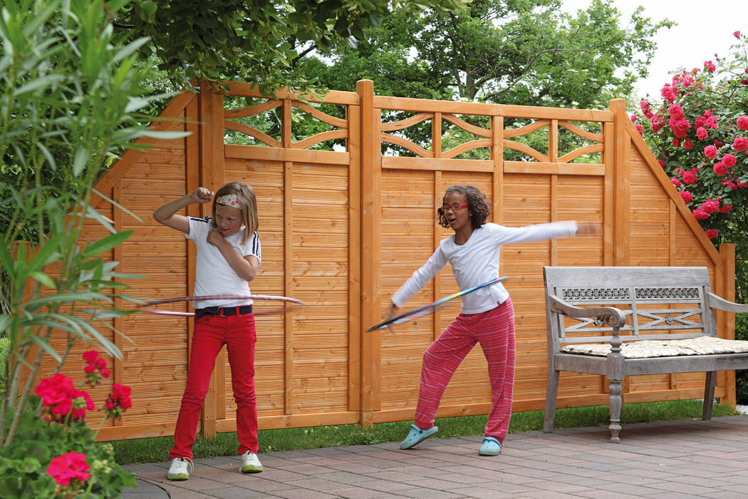
[[[470,0],[135,0],[117,16],[122,37],[147,36],[174,79],[231,79],[263,91],[307,88],[295,61],[310,47],[355,46],[390,9],[417,15]]]

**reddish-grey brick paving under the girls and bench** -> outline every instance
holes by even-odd
[[[478,456],[482,436],[199,459],[189,480],[169,463],[128,465],[126,499],[192,498],[746,498],[748,415],[509,435],[500,456]]]

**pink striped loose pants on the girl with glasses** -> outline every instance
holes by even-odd
[[[512,300],[482,313],[460,313],[423,353],[415,423],[420,429],[434,426],[444,390],[470,349],[480,343],[491,380],[491,414],[485,436],[503,442],[512,417],[515,371],[515,331]]]

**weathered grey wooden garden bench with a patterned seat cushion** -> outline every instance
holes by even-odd
[[[711,293],[705,267],[544,267],[543,275],[545,432],[554,429],[560,371],[607,376],[610,440],[619,442],[626,376],[704,371],[702,419],[708,420],[717,371],[748,368],[748,341],[717,338],[714,322],[714,309],[744,313],[748,305]],[[694,355],[673,355],[683,351]]]

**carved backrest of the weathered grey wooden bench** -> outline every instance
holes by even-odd
[[[613,328],[594,318],[552,313],[549,296],[575,307],[616,307],[625,313],[623,341],[717,336],[707,304],[706,267],[543,267],[548,346],[610,341]]]

